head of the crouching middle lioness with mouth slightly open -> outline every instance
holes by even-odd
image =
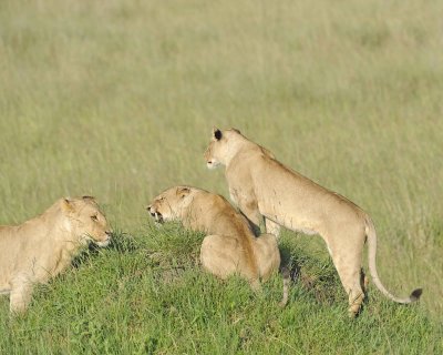
[[[146,207],[156,222],[163,223],[182,217],[182,210],[189,202],[192,187],[174,186],[165,190]]]

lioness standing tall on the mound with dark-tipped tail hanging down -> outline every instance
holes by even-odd
[[[377,287],[398,303],[419,300],[422,290],[406,298],[388,292],[375,268],[377,235],[370,216],[346,197],[329,191],[278,162],[262,146],[238,130],[214,129],[205,152],[207,166],[226,166],[229,194],[256,226],[265,217],[266,231],[278,235],[280,225],[292,231],[320,234],[329,250],[354,316],[364,297],[361,257],[369,244],[369,270]]]

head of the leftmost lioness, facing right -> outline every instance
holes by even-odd
[[[66,216],[65,229],[80,239],[80,242],[94,242],[107,246],[112,230],[94,197],[62,199],[62,212]]]

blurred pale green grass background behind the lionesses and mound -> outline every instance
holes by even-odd
[[[441,1],[0,2],[0,224],[92,194],[137,234],[235,126],[373,217],[379,272],[443,312]],[[307,237],[308,239],[308,237]],[[310,243],[321,243],[309,237]]]

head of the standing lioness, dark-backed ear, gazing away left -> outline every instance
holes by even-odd
[[[214,128],[209,145],[204,154],[206,166],[216,169],[220,164],[226,165],[235,153],[237,140],[241,136],[240,131],[236,129],[222,132],[219,129]]]

